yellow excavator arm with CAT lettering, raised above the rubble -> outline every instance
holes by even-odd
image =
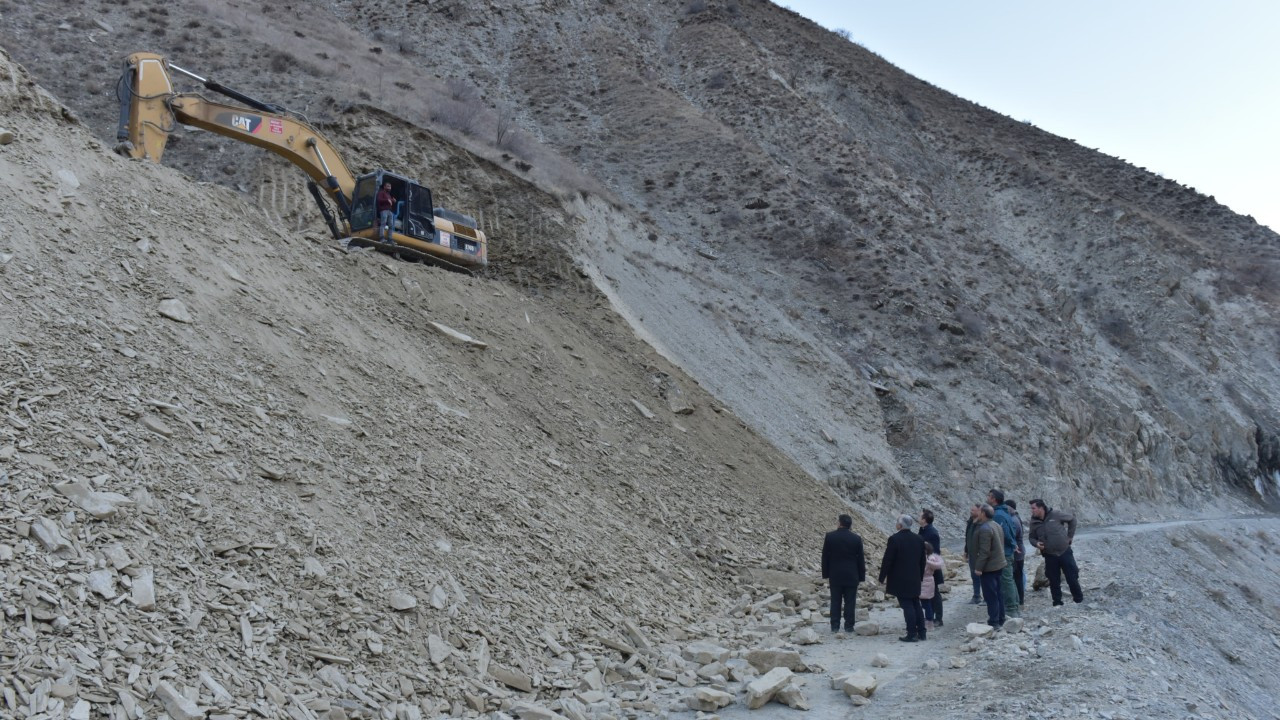
[[[248,109],[198,94],[174,92],[170,70],[233,97]],[[275,152],[325,188],[343,215],[349,214],[355,176],[320,131],[285,114],[282,108],[183,70],[152,53],[128,56],[116,92],[120,96],[116,149],[122,154],[159,163],[169,135],[179,123],[197,127]]]

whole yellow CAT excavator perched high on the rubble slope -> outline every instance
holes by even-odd
[[[197,92],[175,92],[172,73],[244,106]],[[307,188],[325,224],[335,240],[348,246],[369,246],[465,273],[489,264],[488,242],[474,218],[435,208],[430,188],[403,174],[376,169],[353,176],[333,143],[297,113],[202,78],[154,53],[134,53],[125,59],[116,97],[116,151],[123,155],[159,163],[178,124],[215,132],[302,168],[311,178]],[[390,197],[381,192],[387,186]],[[337,214],[325,201],[326,195]]]

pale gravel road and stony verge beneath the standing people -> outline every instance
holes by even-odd
[[[1268,688],[1277,687],[1272,684],[1277,676],[1274,662],[1266,659],[1277,656],[1280,606],[1274,592],[1280,588],[1266,564],[1219,562],[1216,553],[1238,552],[1239,560],[1244,560],[1243,553],[1274,559],[1280,551],[1277,541],[1280,520],[1271,516],[1190,518],[1083,529],[1075,541],[1085,592],[1083,605],[1052,607],[1047,589],[1028,589],[1024,632],[978,641],[975,651],[966,648],[970,637],[965,625],[984,623],[986,607],[968,602],[968,584],[955,584],[946,603],[946,626],[923,643],[897,641],[904,628],[897,609],[872,611],[870,619],[887,629],[882,635],[837,641],[823,624],[823,642],[801,648],[804,662],[814,669],[797,675],[812,706],[808,712],[776,702],[753,711],[737,702],[719,716],[1275,717],[1267,697]],[[1203,552],[1215,555],[1215,561],[1207,571],[1194,573],[1185,561]],[[1028,564],[1028,575],[1037,564]],[[1251,566],[1252,571],[1247,571]],[[1161,578],[1158,584],[1155,577]],[[1238,589],[1242,585],[1251,589]],[[1228,597],[1225,591],[1236,597]],[[1254,593],[1267,596],[1267,602],[1242,615],[1261,633],[1233,633],[1197,623],[1206,602],[1230,607],[1239,602],[1236,598],[1248,602]],[[1233,651],[1228,647],[1233,642],[1244,644]],[[1229,662],[1236,670],[1224,670],[1221,656],[1212,657],[1220,653],[1215,650],[1219,647],[1234,653],[1235,660]],[[1257,656],[1247,656],[1245,647],[1258,648]],[[887,667],[872,666],[878,653],[888,657]],[[938,662],[937,670],[924,667],[929,659]],[[964,666],[952,667],[954,659]],[[870,702],[861,707],[831,688],[833,674],[858,669],[879,680]]]

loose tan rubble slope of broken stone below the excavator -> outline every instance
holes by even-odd
[[[508,707],[812,568],[841,502],[553,258],[511,247],[522,286],[282,232],[3,54],[0,127],[0,714],[157,716],[166,684],[237,716]]]

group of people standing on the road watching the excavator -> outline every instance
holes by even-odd
[[[1043,500],[1030,501],[1032,520],[1024,538],[1018,503],[992,489],[987,502],[975,503],[965,525],[965,561],[973,580],[974,605],[987,606],[987,623],[1000,628],[1009,618],[1021,615],[1027,593],[1024,573],[1025,541],[1044,557],[1053,605],[1062,605],[1062,577],[1071,600],[1084,601],[1079,569],[1071,552],[1075,516],[1048,507]],[[919,530],[911,527],[919,523]],[[831,583],[831,632],[852,632],[858,609],[858,585],[867,580],[863,539],[852,532],[854,520],[841,515],[835,530],[822,546],[822,577]],[[933,512],[922,510],[919,519],[901,515],[897,530],[890,536],[881,561],[878,582],[886,594],[897,598],[906,621],[902,642],[919,642],[928,632],[943,626],[942,593],[945,562],[942,538],[933,527]],[[842,625],[841,625],[842,623]]]

